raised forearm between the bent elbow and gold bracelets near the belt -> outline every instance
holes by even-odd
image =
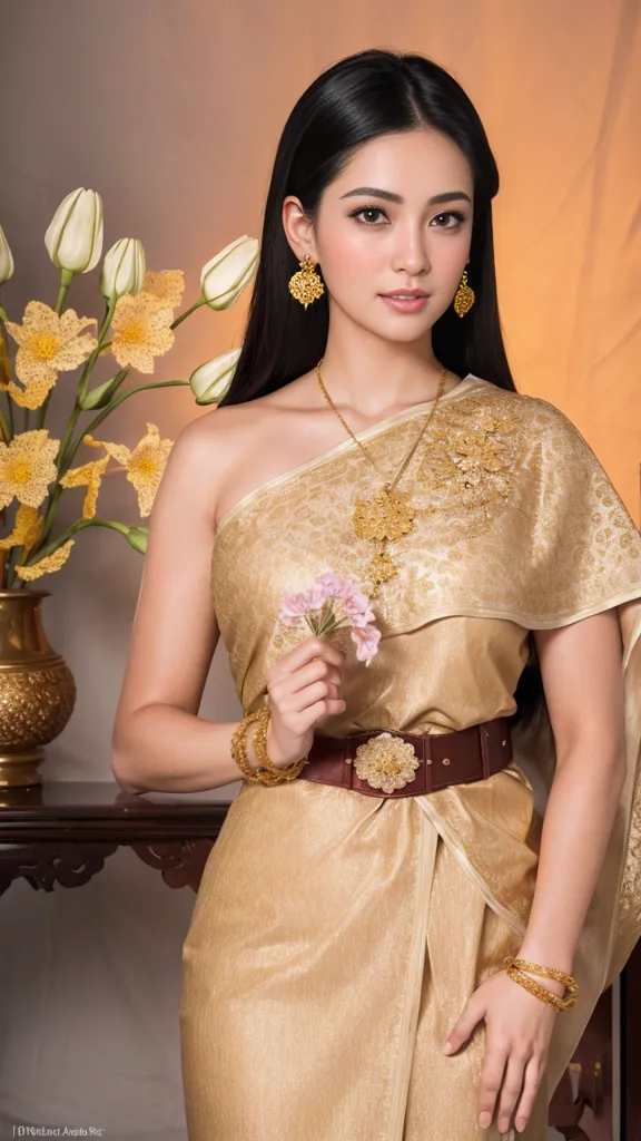
[[[172,705],[146,705],[114,735],[114,776],[135,793],[203,792],[242,780],[230,750],[237,726],[205,721]]]

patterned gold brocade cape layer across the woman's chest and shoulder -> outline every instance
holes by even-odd
[[[409,413],[370,436],[383,478],[422,424]],[[276,623],[283,594],[330,567],[366,578],[371,543],[352,515],[379,485],[347,442],[257,487],[219,525],[212,600],[245,707],[292,645]],[[399,573],[376,599],[383,639],[447,615],[551,629],[641,594],[641,534],[594,452],[544,399],[474,378],[441,404],[400,489],[415,518],[389,544]]]

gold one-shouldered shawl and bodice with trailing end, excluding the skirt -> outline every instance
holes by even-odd
[[[283,596],[328,569],[364,580],[373,548],[355,535],[354,501],[396,475],[430,407],[359,434],[380,478],[348,438],[244,495],[220,521],[212,600],[246,711],[261,703],[269,665],[305,637],[278,625]],[[559,408],[473,374],[441,398],[399,487],[416,516],[389,545],[399,574],[375,599],[379,653],[365,667],[341,631],[347,709],[319,731],[447,733],[509,715],[529,630],[640,600],[623,633],[627,780],[575,960],[579,1003],[558,1021],[560,1077],[641,933],[641,533]],[[506,770],[416,798],[489,906],[520,932],[544,814],[536,795],[546,800],[554,768],[544,705],[541,720],[516,728]]]

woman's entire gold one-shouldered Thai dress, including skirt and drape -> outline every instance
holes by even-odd
[[[383,479],[430,408],[358,434]],[[354,501],[380,482],[346,439],[220,521],[212,602],[245,711],[293,637],[277,622],[283,596],[328,569],[363,581],[372,545],[355,535]],[[366,667],[346,634],[347,709],[319,731],[443,734],[510,715],[528,631],[640,600],[623,648],[627,780],[575,960],[579,1002],[555,1019],[518,1134],[543,1141],[554,1087],[641,933],[641,534],[560,410],[473,374],[441,397],[400,488],[416,517],[389,545],[399,573],[375,599],[379,653]],[[443,1045],[526,931],[555,767],[546,705],[513,745],[489,779],[417,796],[305,772],[243,783],[184,946],[190,1141],[498,1136],[478,1125],[485,1023],[454,1057]]]

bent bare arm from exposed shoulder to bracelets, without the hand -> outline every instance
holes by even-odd
[[[218,408],[187,424],[154,500],[112,738],[112,769],[125,792],[196,792],[242,779],[229,748],[238,722],[197,715],[219,638],[210,570],[216,482],[229,459],[225,419]]]

